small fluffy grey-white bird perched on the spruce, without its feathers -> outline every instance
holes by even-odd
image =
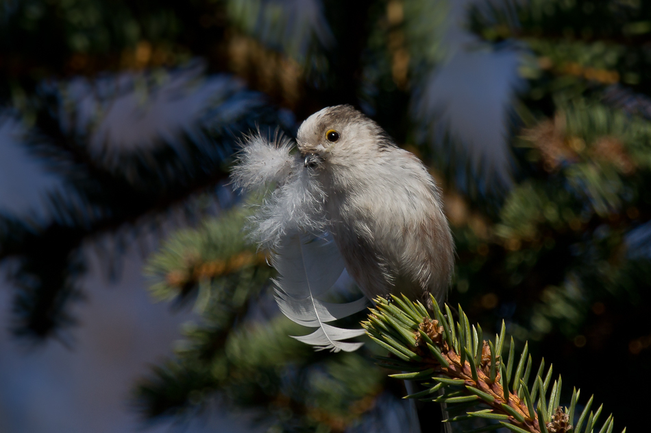
[[[445,299],[454,241],[427,167],[350,105],[323,108],[299,127],[304,167],[322,185],[328,230],[362,292],[404,294],[430,309]]]

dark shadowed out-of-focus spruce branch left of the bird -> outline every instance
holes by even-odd
[[[160,230],[164,220],[182,212],[188,220],[204,215],[202,198],[225,183],[237,131],[279,123],[275,108],[240,86],[220,95],[223,104],[210,110],[209,124],[197,124],[174,140],[157,139],[151,148],[105,154],[90,145],[92,125],[83,130],[66,127],[77,124],[79,113],[77,108],[62,110],[66,105],[60,92],[44,88],[38,93],[40,102],[23,145],[60,174],[66,191],[49,194],[47,210],[39,218],[0,215],[0,261],[19,263],[10,274],[18,288],[12,326],[16,335],[38,340],[75,323],[67,308],[83,295],[77,280],[86,265],[86,242],[110,257],[107,268],[113,275],[112,261],[140,233]],[[241,104],[247,109],[233,110]],[[224,116],[224,110],[232,111]],[[103,248],[106,235],[114,247]]]

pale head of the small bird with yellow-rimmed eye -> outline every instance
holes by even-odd
[[[376,122],[349,105],[323,108],[308,117],[298,130],[297,145],[306,166],[339,158],[372,157],[382,148],[395,146]]]

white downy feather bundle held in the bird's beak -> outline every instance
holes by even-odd
[[[271,251],[271,264],[279,274],[274,282],[280,311],[299,325],[317,328],[294,338],[317,350],[358,349],[362,343],[341,340],[361,336],[363,329],[342,329],[328,323],[360,312],[369,301],[361,298],[336,304],[318,298],[344,269],[339,248],[327,231],[323,187],[304,167],[304,161],[291,154],[293,146],[288,139],[277,135],[269,141],[258,132],[245,140],[231,175],[234,185],[251,191],[276,184],[249,221],[250,237],[260,248]]]

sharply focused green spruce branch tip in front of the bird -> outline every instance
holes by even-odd
[[[495,336],[495,343],[487,342],[482,340],[481,328],[470,325],[460,306],[456,321],[447,305],[443,313],[436,300],[432,298],[432,301],[434,311],[430,314],[419,301],[413,303],[405,296],[400,299],[392,295],[391,301],[378,298],[369,320],[362,323],[369,337],[391,352],[387,358],[378,358],[379,364],[406,372],[391,377],[428,382],[423,384],[426,390],[405,398],[447,403],[451,412],[447,422],[467,419],[498,422],[478,431],[493,430],[497,426],[517,433],[613,430],[612,415],[597,430],[602,408],[594,414],[589,412],[592,398],[573,425],[580,390],[575,388],[569,407],[560,406],[561,377],[554,381],[548,394],[552,366],[545,374],[544,361],[529,385],[532,358],[528,355],[528,345],[525,344],[520,356],[516,357],[511,338],[505,360],[502,354],[506,338],[504,322],[500,335]]]

